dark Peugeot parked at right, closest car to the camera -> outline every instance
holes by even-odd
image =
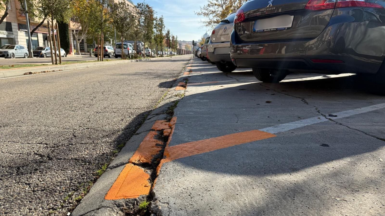
[[[298,70],[377,73],[385,81],[384,7],[378,0],[248,1],[234,20],[232,61],[263,82]]]

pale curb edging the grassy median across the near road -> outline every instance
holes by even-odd
[[[135,59],[135,60],[113,60],[113,61],[99,61],[99,62],[86,62],[86,63],[75,63],[68,65],[46,65],[46,66],[38,66],[38,67],[29,67],[22,69],[6,69],[0,70],[0,78],[13,77],[13,76],[22,76],[25,73],[39,73],[44,71],[64,71],[64,70],[77,70],[82,68],[94,68],[100,66],[108,66],[108,65],[120,65],[131,62],[141,62],[141,61],[152,61],[152,60],[160,60],[170,57],[159,57],[159,58],[144,58],[144,59]]]

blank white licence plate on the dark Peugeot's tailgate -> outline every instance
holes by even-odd
[[[286,30],[293,26],[294,16],[281,15],[277,17],[256,20],[254,23],[254,32],[270,32],[277,30]]]

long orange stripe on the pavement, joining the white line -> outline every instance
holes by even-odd
[[[164,151],[166,158],[164,159],[163,163],[192,155],[199,155],[209,151],[228,148],[235,145],[264,140],[275,136],[276,135],[264,131],[253,130],[184,143],[176,146],[166,146]]]

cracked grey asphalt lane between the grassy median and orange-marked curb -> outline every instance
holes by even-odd
[[[0,215],[66,215],[190,58],[0,79]]]

